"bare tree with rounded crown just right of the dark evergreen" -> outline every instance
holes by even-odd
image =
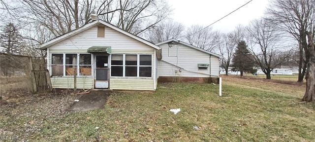
[[[251,21],[246,31],[254,63],[266,74],[266,79],[271,79],[271,71],[290,57],[292,49],[281,45],[284,44],[281,35],[266,19]]]

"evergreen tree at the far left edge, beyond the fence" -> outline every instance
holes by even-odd
[[[18,29],[13,23],[9,23],[1,29],[0,33],[0,47],[2,47],[2,52],[8,54],[20,55],[23,49],[23,38],[20,35]]]

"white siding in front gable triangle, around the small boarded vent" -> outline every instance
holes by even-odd
[[[112,53],[115,52],[115,50],[154,50],[153,47],[148,46],[138,40],[135,40],[106,26],[105,37],[97,37],[97,26],[95,26],[49,47],[49,50],[51,53],[54,50],[56,52],[86,52],[87,49],[91,46],[111,46]]]

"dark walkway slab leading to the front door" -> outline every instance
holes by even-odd
[[[106,104],[107,97],[110,94],[111,91],[106,90],[91,91],[89,94],[83,94],[83,96],[78,99],[79,102],[74,102],[68,110],[88,111],[93,109],[103,109]]]

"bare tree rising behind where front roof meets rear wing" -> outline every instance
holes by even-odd
[[[158,23],[152,29],[147,30],[143,35],[153,43],[159,43],[168,39],[177,39],[183,36],[185,26],[173,20],[165,20]]]

